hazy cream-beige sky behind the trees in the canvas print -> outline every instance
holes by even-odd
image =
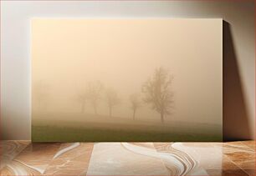
[[[221,124],[222,25],[222,19],[35,18],[33,111],[79,113],[79,93],[100,81],[120,97],[113,116],[131,118],[129,96],[141,93],[141,85],[163,67],[174,77],[174,108],[166,120]],[[84,111],[93,113],[90,103]],[[108,114],[104,93],[98,113]],[[136,116],[158,120],[160,115],[144,104]]]

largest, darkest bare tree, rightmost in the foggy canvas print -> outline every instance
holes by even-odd
[[[161,115],[161,123],[164,123],[166,114],[170,114],[173,103],[173,93],[170,90],[173,77],[164,69],[156,68],[152,78],[149,78],[142,86],[145,103],[151,104],[151,108]]]

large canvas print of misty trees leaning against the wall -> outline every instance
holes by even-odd
[[[221,141],[223,20],[33,18],[32,140]]]

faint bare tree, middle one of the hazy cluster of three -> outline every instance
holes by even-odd
[[[89,83],[86,89],[86,98],[88,98],[92,107],[94,108],[95,114],[98,114],[97,108],[103,89],[103,84],[100,82]]]

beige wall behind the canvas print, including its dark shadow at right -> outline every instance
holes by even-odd
[[[224,47],[224,133],[253,138],[254,4],[244,2],[1,2],[1,134],[29,139],[31,120],[30,19],[43,18],[223,18],[229,23]],[[225,86],[225,83],[224,83]],[[228,88],[228,90],[227,90]],[[225,88],[224,88],[225,90]],[[224,91],[225,93],[225,91]],[[242,124],[242,125],[241,125]],[[248,130],[247,130],[248,129]]]

